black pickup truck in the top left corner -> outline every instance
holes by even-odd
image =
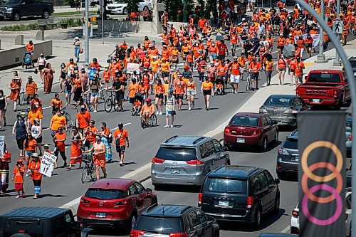
[[[53,4],[36,0],[9,0],[0,5],[0,20],[19,21],[22,16],[42,16],[48,19],[53,14]]]

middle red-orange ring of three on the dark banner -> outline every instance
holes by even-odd
[[[320,168],[330,169],[333,173],[336,174],[336,181],[337,181],[336,191],[337,193],[340,194],[342,190],[342,183],[343,183],[340,172],[337,172],[336,167],[329,162],[318,162],[310,165],[309,167],[310,172],[313,172],[315,169],[320,169]],[[325,197],[319,197],[310,193],[308,187],[308,177],[305,174],[303,174],[302,177],[302,189],[305,196],[308,196],[308,199],[318,202],[319,204],[327,204],[328,202],[333,201],[335,199],[335,196],[333,196],[333,194],[330,194],[329,196],[325,196]]]

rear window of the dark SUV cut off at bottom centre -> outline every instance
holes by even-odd
[[[182,232],[181,218],[140,216],[137,219],[135,230],[148,233],[169,234]]]

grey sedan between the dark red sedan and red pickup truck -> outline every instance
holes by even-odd
[[[297,95],[271,95],[260,107],[260,113],[277,121],[278,125],[297,125],[297,113],[308,110],[302,98]]]

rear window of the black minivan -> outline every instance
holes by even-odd
[[[208,178],[204,184],[204,191],[246,194],[246,183],[244,179]]]

